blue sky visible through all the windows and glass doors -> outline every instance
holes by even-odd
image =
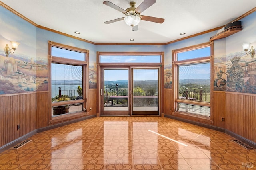
[[[66,49],[52,47],[52,55],[58,57],[64,57],[68,59],[84,60],[84,53],[70,51]],[[210,47],[196,49],[192,51],[186,51],[178,53],[178,61],[184,59],[193,59],[197,57],[210,56]],[[160,55],[101,55],[100,62],[102,63],[160,63]],[[54,64],[55,65],[55,64]],[[52,80],[64,80],[65,74],[62,68],[58,68],[59,64],[56,64],[56,72],[52,74]],[[62,65],[63,66],[63,65]],[[74,67],[74,68],[73,68]],[[69,75],[75,78],[77,70],[76,66],[70,68],[73,72]],[[67,68],[65,68],[67,69]],[[79,71],[80,72],[80,71]],[[134,80],[158,80],[158,69],[134,69],[133,70]],[[209,79],[210,78],[210,63],[186,65],[179,67],[179,79]],[[115,81],[115,80],[128,80],[128,69],[105,69],[104,80]],[[78,75],[76,75],[78,76]],[[78,76],[80,79],[80,76]],[[67,78],[67,75],[66,75]]]

